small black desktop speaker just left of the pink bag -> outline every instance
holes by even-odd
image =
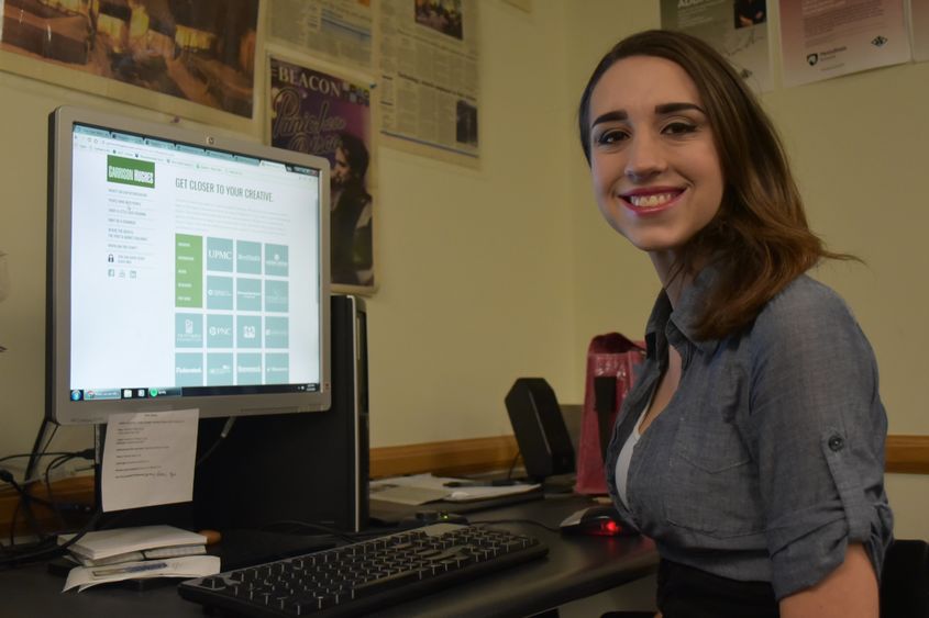
[[[506,397],[527,474],[541,481],[574,472],[574,448],[555,392],[542,378],[520,378]]]

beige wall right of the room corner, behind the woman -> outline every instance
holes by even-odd
[[[776,10],[776,2],[768,2]],[[579,97],[600,56],[635,31],[660,25],[652,0],[588,0],[566,13],[567,88]],[[776,20],[772,26],[776,25]],[[777,41],[776,29],[771,32]],[[779,47],[775,45],[775,83]],[[811,227],[831,248],[862,258],[826,265],[815,277],[855,312],[881,370],[892,434],[929,435],[924,371],[929,349],[922,281],[929,254],[920,249],[929,210],[918,180],[929,144],[929,63],[855,74],[762,97],[781,131],[806,200]],[[576,139],[576,138],[575,138]],[[579,146],[572,145],[575,196],[573,356],[598,333],[641,336],[659,283],[651,263],[618,237],[597,212]],[[897,535],[929,538],[929,476],[887,475]]]

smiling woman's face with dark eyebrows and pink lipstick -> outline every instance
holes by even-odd
[[[697,87],[671,60],[631,56],[600,77],[589,112],[600,212],[653,258],[673,255],[722,201],[722,169]]]

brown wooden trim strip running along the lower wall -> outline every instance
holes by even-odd
[[[516,458],[517,445],[512,436],[473,438],[427,442],[402,447],[371,449],[373,479],[434,472],[440,475],[476,474],[490,470],[506,470]],[[929,474],[929,436],[887,436],[886,468],[891,473]],[[92,504],[93,479],[77,476],[53,483],[54,498],[60,502]],[[44,487],[37,495],[47,496]],[[12,490],[0,490],[0,535],[9,536],[10,521],[16,509],[19,496]],[[52,529],[55,516],[41,505],[35,506],[40,524]],[[18,519],[18,531],[23,519]]]

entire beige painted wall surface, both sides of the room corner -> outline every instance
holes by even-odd
[[[579,402],[589,338],[639,336],[657,291],[648,259],[600,221],[574,130],[594,64],[622,35],[659,25],[657,2],[537,0],[526,14],[484,0],[480,11],[480,169],[378,151],[375,447],[509,434],[502,400],[519,375],[544,377],[562,401]],[[929,434],[919,186],[929,63],[777,88],[763,101],[814,227],[867,262],[817,276],[849,300],[874,345],[891,431]],[[13,285],[0,303],[10,348],[0,355],[0,454],[29,450],[42,415],[45,127],[63,103],[165,120],[0,72],[0,250]],[[261,135],[256,122],[245,136]],[[56,437],[62,448],[89,441],[86,428]],[[888,491],[898,533],[929,538],[929,479],[891,475]]]

